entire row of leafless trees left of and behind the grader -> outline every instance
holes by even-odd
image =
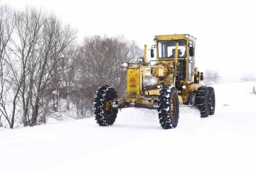
[[[77,33],[53,14],[0,4],[0,125],[92,117],[95,91],[105,84],[124,95],[121,64],[142,57],[142,49],[124,36],[95,35],[79,44]]]

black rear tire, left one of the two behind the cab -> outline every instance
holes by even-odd
[[[210,114],[210,91],[206,86],[200,86],[196,91],[196,106],[201,112],[201,118],[207,118]]]

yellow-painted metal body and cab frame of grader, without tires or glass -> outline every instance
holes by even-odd
[[[159,96],[160,89],[153,89],[154,86],[148,87],[149,89],[145,91],[146,97],[144,96],[142,98],[142,90],[143,90],[143,80],[145,79],[146,73],[147,76],[156,77],[157,84],[159,85],[175,85],[175,76],[176,75],[176,64],[178,60],[186,60],[186,79],[182,81],[178,81],[178,86],[176,88],[178,89],[178,101],[181,104],[188,103],[190,99],[191,93],[194,91],[197,91],[198,87],[200,85],[200,81],[198,84],[193,84],[193,78],[199,77],[200,78],[200,72],[198,72],[198,68],[195,67],[194,69],[194,75],[192,76],[192,79],[188,81],[188,55],[189,55],[189,49],[188,49],[188,41],[191,40],[193,42],[196,41],[196,38],[194,38],[191,35],[186,34],[176,34],[176,35],[156,35],[155,36],[157,40],[187,40],[186,44],[186,58],[178,58],[178,42],[176,42],[176,51],[175,51],[175,57],[174,58],[161,58],[158,57],[158,47],[156,42],[156,61],[158,64],[151,66],[149,63],[146,63],[146,50],[147,46],[144,45],[144,63],[138,64],[129,64],[129,67],[127,68],[127,97],[122,98],[124,101],[130,101],[134,102],[136,104],[141,104],[145,106],[153,107],[156,103],[153,100],[153,98],[157,98]],[[167,67],[166,67],[167,66]],[[148,71],[148,72],[147,72]],[[168,74],[168,76],[166,76]],[[156,86],[155,85],[155,86]],[[186,86],[186,88],[183,90],[181,89],[181,86]]]

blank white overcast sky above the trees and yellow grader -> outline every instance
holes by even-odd
[[[196,40],[196,65],[233,76],[256,74],[255,6],[250,0],[0,0],[55,13],[63,23],[88,35],[124,35],[140,47],[154,35],[188,33]],[[240,76],[240,75],[239,75]]]

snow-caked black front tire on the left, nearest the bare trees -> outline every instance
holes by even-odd
[[[118,110],[117,108],[110,108],[110,111],[106,110],[107,101],[113,101],[114,98],[117,98],[117,91],[113,86],[100,86],[95,94],[94,100],[94,116],[96,122],[101,126],[113,125],[114,121],[117,118]]]

